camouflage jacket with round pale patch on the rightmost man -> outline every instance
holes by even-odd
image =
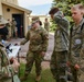
[[[78,63],[84,58],[84,19],[72,30],[71,61]]]

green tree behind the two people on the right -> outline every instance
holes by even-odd
[[[53,0],[52,7],[57,7],[65,16],[71,17],[71,7],[77,3],[84,3],[84,0]]]

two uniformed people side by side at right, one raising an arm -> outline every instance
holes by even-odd
[[[56,82],[67,82],[66,69],[70,67],[72,82],[80,82],[80,77],[84,72],[82,67],[84,66],[82,62],[84,58],[84,5],[75,4],[71,8],[74,22],[71,30],[69,30],[69,21],[57,8],[51,9],[49,14],[57,24],[50,63],[52,74]]]

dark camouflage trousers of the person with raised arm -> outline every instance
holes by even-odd
[[[51,72],[56,82],[67,82],[66,75],[67,51],[53,51],[51,57]]]

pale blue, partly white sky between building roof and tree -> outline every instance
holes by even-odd
[[[31,14],[38,15],[43,14],[46,15],[52,5],[53,0],[18,0],[19,5],[32,11]]]

